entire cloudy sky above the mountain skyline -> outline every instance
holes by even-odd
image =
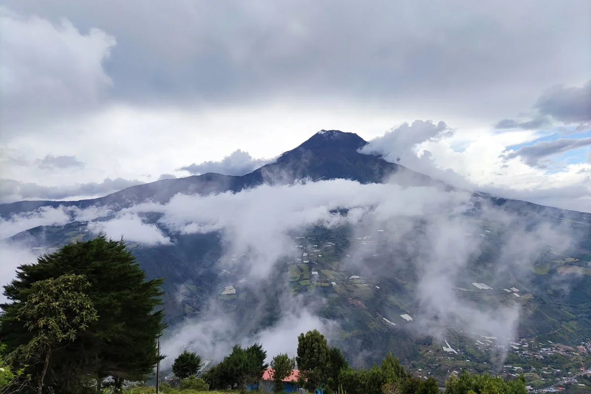
[[[3,202],[243,174],[340,129],[591,211],[586,0],[4,0],[0,18]]]

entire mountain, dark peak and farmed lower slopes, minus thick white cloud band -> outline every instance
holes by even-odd
[[[274,163],[240,177],[203,174],[138,185],[93,200],[21,201],[0,206],[0,213],[6,216],[59,204],[109,205],[116,211],[117,207],[145,200],[168,201],[176,193],[239,191],[264,183],[289,184],[297,179],[347,178],[360,183],[379,183],[395,175],[397,183],[450,189],[381,157],[359,154],[358,149],[365,144],[353,133],[321,131],[282,154]],[[306,187],[317,185],[322,184]],[[428,200],[431,194],[443,197],[453,194],[437,193],[433,189],[400,191],[405,192],[416,192],[413,196],[417,200]],[[279,198],[269,201],[285,209]],[[241,236],[252,233],[261,242],[244,241],[252,248],[239,249],[236,254],[229,248],[232,231],[226,232],[224,228],[206,230],[206,233],[178,232],[160,221],[161,213],[146,212],[142,213],[141,222],[157,227],[171,242],[164,245],[130,242],[128,248],[148,278],[165,278],[164,311],[171,336],[182,333],[182,327],[190,321],[195,324],[191,333],[211,329],[215,336],[233,344],[255,338],[267,329],[281,328],[283,319],[295,325],[305,320],[305,316],[298,314],[301,312],[298,309],[303,309],[336,324],[333,344],[343,349],[352,363],[371,365],[381,360],[386,351],[392,351],[405,364],[415,369],[428,368],[441,379],[449,370],[465,367],[479,372],[499,372],[495,369],[503,365],[499,349],[508,352],[507,363],[529,370],[531,360],[522,356],[531,353],[528,349],[534,346],[546,346],[541,341],[573,346],[589,341],[591,220],[587,220],[588,214],[483,193],[473,193],[466,204],[469,209],[460,214],[454,211],[451,217],[445,210],[430,210],[417,217],[411,213],[414,201],[410,198],[401,200],[387,194],[384,201],[387,204],[378,208],[388,205],[396,207],[398,213],[379,210],[370,224],[353,221],[356,224],[342,222],[322,227],[310,222],[313,224],[302,226],[295,233],[285,233],[290,239],[286,244],[281,237],[275,239],[271,232],[256,231],[259,224],[277,230],[261,214],[265,212],[271,217],[277,211],[269,213],[267,206],[258,207],[252,210],[255,220],[246,220],[241,227]],[[250,214],[251,206],[241,207]],[[331,208],[331,214],[347,214],[347,209],[340,206]],[[371,216],[373,208],[368,209]],[[186,207],[187,213],[194,210],[192,206]],[[301,210],[294,210],[287,217],[300,213]],[[101,223],[116,217],[117,213],[113,213],[91,220]],[[241,219],[231,217],[232,220]],[[552,233],[547,230],[551,227],[560,229],[561,233],[571,232],[571,245],[562,245],[561,237],[549,238],[548,234]],[[92,238],[96,228],[88,222],[39,226],[15,235],[12,241],[20,248],[51,252],[67,243]],[[132,234],[144,228],[126,227],[122,231]],[[243,241],[241,236],[234,236],[236,243]],[[285,255],[273,259],[270,271],[259,278],[258,271],[250,271],[249,266],[258,267],[272,248],[281,249]],[[448,272],[463,259],[462,269],[454,275]],[[523,259],[530,265],[520,266]],[[475,284],[486,284],[487,288]],[[225,290],[228,286],[235,292],[228,294]],[[512,290],[514,287],[519,291]],[[435,303],[439,309],[433,309],[433,299],[442,300]],[[451,307],[448,310],[441,304]],[[488,326],[491,330],[498,328],[495,321],[504,316],[495,311],[506,307],[521,311],[519,320],[515,321],[515,334],[520,338],[519,343],[524,341],[523,347],[508,346],[508,340],[517,338],[499,335],[499,341],[493,343],[494,336],[487,337],[488,340],[477,337],[475,341],[473,335],[466,335],[466,327],[470,325],[483,335],[492,335],[487,332]],[[488,311],[492,317],[486,319],[489,324],[475,325],[472,320],[480,320],[476,312],[473,312],[475,317],[470,315],[467,319],[464,314],[456,314],[456,310],[465,308],[483,311],[485,318]],[[412,317],[410,321],[409,317]],[[201,340],[191,342],[194,334],[184,338],[183,346],[195,346],[199,350],[202,345]],[[443,347],[453,347],[458,353],[449,353]],[[216,357],[211,349],[207,351],[202,354]],[[535,351],[539,355],[546,350]],[[576,366],[564,354],[558,356],[544,362],[565,373],[567,368],[577,369],[591,362],[591,355],[584,356],[583,364]],[[580,357],[583,359],[583,355]]]

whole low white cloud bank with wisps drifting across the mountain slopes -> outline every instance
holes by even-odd
[[[441,124],[429,127],[434,138],[447,132]],[[491,242],[497,250],[485,261],[488,269],[499,273],[526,272],[549,245],[557,250],[569,247],[574,239],[569,225],[531,226],[527,219],[488,206],[471,193],[401,187],[396,181],[396,176],[385,184],[302,181],[293,185],[262,185],[240,193],[178,194],[165,204],[142,203],[117,212],[96,207],[46,207],[4,220],[2,236],[34,226],[74,221],[89,221],[87,227],[92,232],[102,230],[108,236],[124,236],[146,246],[174,245],[181,235],[217,232],[222,235],[223,245],[217,267],[244,272],[249,289],[256,292],[276,275],[278,262],[301,253],[294,234],[303,234],[313,226],[352,226],[354,237],[380,234],[381,243],[352,243],[348,250],[351,257],[344,258],[342,266],[356,269],[364,277],[379,275],[384,280],[412,266],[417,275],[413,324],[421,330],[441,339],[447,327],[462,328],[473,336],[514,336],[519,304],[483,308],[460,297],[457,288],[476,281],[470,266],[491,249]],[[387,265],[379,266],[382,272],[376,272],[367,262],[378,255],[388,258]],[[229,351],[235,341],[262,341],[269,356],[286,351],[294,355],[301,331],[319,328],[329,338],[337,332],[339,321],[319,318],[316,308],[290,294],[282,293],[278,301],[281,314],[271,327],[248,333],[241,331],[245,327],[236,327],[231,315],[222,314],[212,297],[199,321],[175,328],[174,336],[163,343],[164,353],[170,361],[189,346],[206,358],[216,359]],[[256,318],[253,316],[255,323]]]

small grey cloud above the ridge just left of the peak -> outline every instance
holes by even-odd
[[[192,175],[216,172],[223,175],[244,175],[267,164],[267,159],[252,158],[248,152],[238,149],[220,161],[204,161],[201,164],[193,163],[178,170],[189,171]]]

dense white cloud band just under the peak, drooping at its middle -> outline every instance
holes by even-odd
[[[261,278],[268,275],[280,256],[293,250],[290,231],[316,223],[329,227],[355,223],[359,218],[355,210],[346,217],[330,210],[385,204],[392,212],[413,216],[436,213],[469,198],[466,193],[441,194],[427,190],[332,180],[278,187],[262,185],[235,194],[178,194],[164,205],[138,204],[124,211],[162,212],[159,222],[178,233],[222,230],[228,240],[227,254],[245,255],[252,268],[251,275]],[[397,196],[395,203],[386,201],[392,195]]]

